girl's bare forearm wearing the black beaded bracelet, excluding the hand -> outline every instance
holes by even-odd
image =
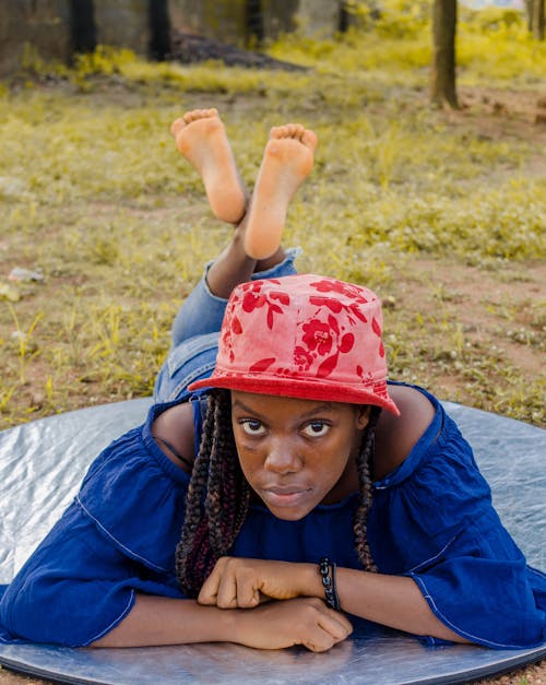
[[[344,612],[414,635],[467,641],[435,616],[412,578],[337,568],[336,586]],[[307,593],[324,598],[317,567],[312,570],[308,567],[307,588]]]

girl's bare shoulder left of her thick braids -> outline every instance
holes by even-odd
[[[152,424],[152,435],[159,449],[187,473],[193,466],[193,409],[190,402],[176,404],[159,414]]]

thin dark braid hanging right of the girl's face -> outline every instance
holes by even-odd
[[[370,417],[363,436],[360,451],[358,452],[358,482],[360,496],[355,511],[353,530],[355,532],[355,548],[364,569],[377,572],[377,566],[371,557],[368,544],[368,513],[372,500],[371,463],[376,448],[376,426],[381,413],[381,408],[371,406]]]

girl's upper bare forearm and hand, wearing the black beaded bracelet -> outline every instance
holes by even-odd
[[[347,613],[414,635],[466,641],[434,615],[411,578],[337,568],[336,579],[341,607]],[[198,601],[224,609],[251,607],[263,597],[323,599],[317,565],[223,557],[203,584]]]

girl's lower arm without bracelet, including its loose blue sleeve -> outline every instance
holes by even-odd
[[[177,597],[138,568],[72,505],[5,591],[0,625],[14,639],[67,647],[230,641],[324,651],[352,631],[317,599],[225,611]]]

